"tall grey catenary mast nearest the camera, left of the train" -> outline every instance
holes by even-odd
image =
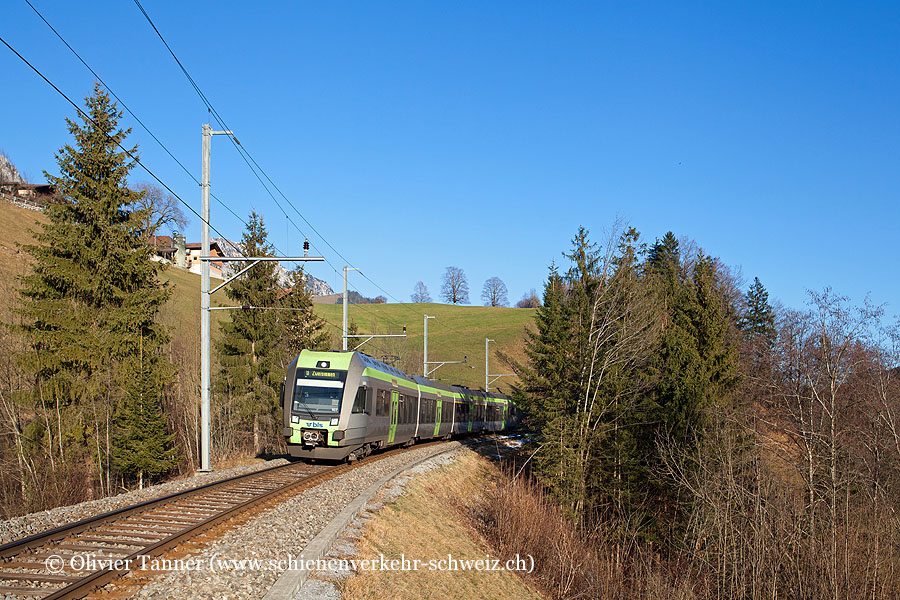
[[[203,124],[203,178],[200,184],[200,256],[209,256],[209,142],[212,128]],[[200,261],[200,470],[209,471],[209,261]]]

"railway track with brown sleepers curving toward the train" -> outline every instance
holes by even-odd
[[[437,444],[420,444],[416,448]],[[0,546],[0,595],[46,600],[83,598],[141,564],[248,511],[371,464],[405,449],[355,464],[290,463],[141,502]],[[254,510],[255,509],[255,510]],[[221,527],[218,530],[224,531]],[[76,556],[90,555],[88,570]],[[48,568],[49,567],[49,568]],[[78,569],[78,570],[76,570]]]

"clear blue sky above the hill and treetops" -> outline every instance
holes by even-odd
[[[32,1],[199,178],[206,109],[137,7]],[[399,300],[420,279],[437,299],[456,265],[473,303],[493,275],[515,302],[580,225],[600,239],[622,217],[646,241],[696,240],[786,305],[830,285],[900,313],[900,4],[143,4],[299,211]],[[91,74],[23,0],[3,13],[4,39],[73,98],[90,93]],[[0,148],[40,180],[73,109],[5,47],[0,70]],[[199,188],[125,124],[199,207]],[[255,208],[282,251],[300,252],[221,137],[212,173],[235,212]],[[242,225],[212,211],[238,239]],[[199,240],[197,219],[187,233]],[[340,286],[328,265],[311,272]]]

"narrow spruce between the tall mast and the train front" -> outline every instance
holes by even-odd
[[[245,256],[272,256],[265,224],[255,211],[250,213],[241,247]],[[231,321],[222,327],[216,390],[232,401],[238,419],[252,428],[253,448],[259,454],[279,439],[282,322],[277,311],[267,310],[276,307],[280,292],[275,263],[255,265],[225,289],[229,299],[248,309],[233,311]]]

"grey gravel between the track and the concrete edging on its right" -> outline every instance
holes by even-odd
[[[164,573],[132,571],[124,586],[107,587],[127,590],[134,598],[262,598],[283,569],[269,566],[270,561],[286,561],[299,554],[351,500],[369,485],[394,469],[411,464],[449,449],[459,449],[459,442],[414,448],[409,452],[388,456],[330,479],[316,487],[285,500],[275,508],[253,517],[245,524],[225,533],[202,551],[181,560],[194,558],[198,567]],[[370,459],[371,460],[371,459]],[[218,566],[210,569],[209,561]],[[227,561],[248,561],[243,567],[226,565]],[[259,561],[254,566],[249,561]],[[149,581],[141,587],[128,585],[136,579]]]

